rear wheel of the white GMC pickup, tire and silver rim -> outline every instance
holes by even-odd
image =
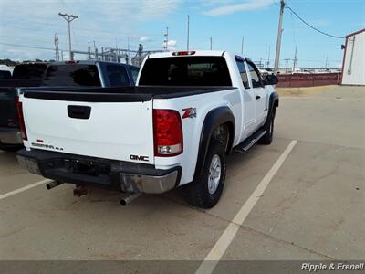
[[[225,172],[224,144],[213,140],[209,145],[202,176],[183,189],[189,204],[201,208],[216,205],[223,193]]]

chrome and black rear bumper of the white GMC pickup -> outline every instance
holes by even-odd
[[[161,170],[151,164],[41,150],[23,149],[16,153],[16,157],[33,174],[59,182],[87,184],[122,192],[161,194],[176,187],[182,174],[181,167]]]

